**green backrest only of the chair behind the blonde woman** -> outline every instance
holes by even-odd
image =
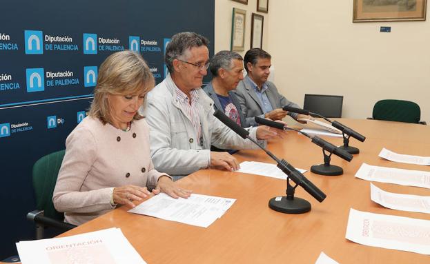
[[[36,208],[44,210],[44,215],[59,221],[64,220],[64,214],[55,210],[52,194],[57,183],[58,172],[63,161],[65,150],[53,152],[41,157],[33,165],[33,188],[36,196]]]

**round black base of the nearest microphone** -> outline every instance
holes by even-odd
[[[308,201],[296,197],[290,200],[286,199],[286,196],[273,197],[268,201],[268,207],[284,214],[303,214],[311,211],[311,203]]]

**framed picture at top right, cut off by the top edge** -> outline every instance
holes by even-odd
[[[354,0],[353,22],[424,21],[427,0]]]

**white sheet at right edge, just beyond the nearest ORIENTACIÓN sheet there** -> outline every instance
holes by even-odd
[[[372,201],[387,208],[430,214],[430,196],[385,192],[372,183],[370,184],[370,194]]]

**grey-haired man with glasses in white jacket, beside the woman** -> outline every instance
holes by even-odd
[[[146,121],[150,126],[150,152],[154,166],[179,179],[206,167],[237,170],[224,149],[255,149],[213,116],[213,101],[201,89],[209,66],[208,40],[194,32],[175,34],[166,47],[168,76],[148,93]],[[253,139],[268,139],[277,132],[251,128]],[[260,141],[265,143],[265,141]]]

